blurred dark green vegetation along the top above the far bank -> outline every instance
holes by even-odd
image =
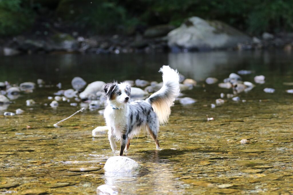
[[[93,34],[129,33],[159,24],[179,26],[186,18],[198,16],[258,35],[293,30],[293,1],[0,0],[0,35],[30,30],[46,16],[64,27]]]

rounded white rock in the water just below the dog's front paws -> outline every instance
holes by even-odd
[[[125,156],[112,156],[108,158],[104,166],[106,172],[117,173],[132,172],[139,170],[140,168],[141,166],[137,162]]]

